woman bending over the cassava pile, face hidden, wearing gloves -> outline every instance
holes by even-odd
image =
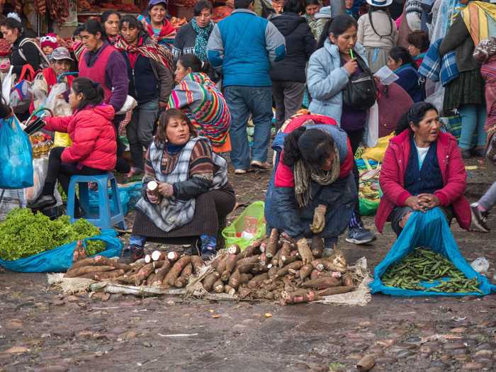
[[[327,116],[298,115],[283,126],[273,146],[277,155],[266,195],[267,225],[295,239],[299,250],[308,246],[305,238],[314,236],[332,249],[356,200],[346,133]]]

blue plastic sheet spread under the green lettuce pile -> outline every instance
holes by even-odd
[[[106,243],[106,250],[98,253],[98,256],[116,257],[120,256],[123,244],[117,237],[117,232],[112,229],[102,230],[101,235],[89,237],[86,240],[103,240]],[[58,273],[65,272],[72,266],[72,255],[77,242],[71,242],[60,247],[50,249],[31,257],[16,259],[14,261],[4,261],[0,259],[0,266],[11,271],[21,273]]]

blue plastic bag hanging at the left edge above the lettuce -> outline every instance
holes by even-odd
[[[17,118],[0,119],[0,188],[33,186],[33,153],[29,136]]]

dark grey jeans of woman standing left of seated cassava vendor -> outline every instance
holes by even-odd
[[[131,118],[126,127],[133,167],[141,171],[145,169],[143,147],[147,149],[153,140],[153,128],[158,114],[158,98],[150,102],[141,103],[133,110],[133,118]]]

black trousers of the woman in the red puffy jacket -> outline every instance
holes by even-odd
[[[94,169],[90,167],[77,167],[77,163],[64,163],[62,162],[62,151],[65,147],[54,147],[50,151],[48,157],[48,172],[43,186],[43,195],[53,195],[55,191],[55,184],[57,181],[62,185],[62,189],[67,194],[69,190],[69,182],[73,174],[81,174],[84,176],[94,176],[96,174],[105,174],[107,171],[101,169]]]

